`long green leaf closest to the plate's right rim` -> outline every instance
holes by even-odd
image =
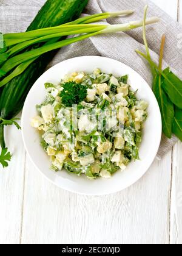
[[[157,98],[163,123],[163,133],[167,138],[172,137],[172,122],[174,120],[174,105],[163,90],[164,78],[156,74],[153,80],[153,93]]]

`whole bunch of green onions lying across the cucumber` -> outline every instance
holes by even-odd
[[[57,27],[49,27],[29,32],[16,34],[4,34],[4,48],[0,48],[0,87],[10,82],[14,77],[23,73],[25,69],[38,57],[46,52],[62,48],[72,43],[82,41],[86,38],[112,32],[126,32],[131,29],[143,26],[143,20],[131,21],[118,25],[89,24],[97,21],[129,15],[133,10],[124,10],[115,13],[101,13],[91,16],[84,16],[76,21]],[[157,23],[159,18],[152,17],[146,20],[146,25]],[[59,41],[60,37],[78,35]],[[44,43],[37,49],[19,53],[23,49],[36,43]]]

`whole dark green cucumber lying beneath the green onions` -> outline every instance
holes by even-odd
[[[89,0],[47,0],[27,31],[44,27],[58,26],[76,20],[83,12]],[[61,40],[61,38],[60,38]],[[25,51],[38,48],[40,44],[30,46]],[[11,80],[0,91],[0,116],[12,119],[22,109],[25,98],[35,81],[44,73],[46,66],[57,51],[41,55],[24,73]],[[0,143],[5,148],[4,127],[0,126]]]

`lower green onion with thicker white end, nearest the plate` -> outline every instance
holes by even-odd
[[[153,24],[157,23],[159,19],[157,17],[149,18],[146,20],[146,25],[148,24]],[[71,26],[71,27],[70,27]],[[45,44],[44,46],[41,46],[38,49],[33,49],[32,51],[27,51],[22,54],[18,54],[13,56],[10,59],[7,59],[4,63],[4,65],[1,66],[1,72],[2,74],[7,74],[12,69],[16,68],[13,72],[13,74],[10,74],[8,77],[5,77],[0,82],[0,87],[3,87],[7,82],[9,82],[12,77],[15,77],[15,74],[21,74],[21,71],[24,71],[27,66],[29,66],[29,63],[32,63],[35,58],[38,58],[40,55],[45,54],[46,52],[53,51],[55,49],[62,48],[64,46],[67,46],[72,43],[76,43],[78,41],[83,41],[86,38],[93,37],[95,35],[101,35],[101,34],[108,34],[108,33],[113,33],[113,32],[126,32],[131,29],[136,29],[138,27],[143,26],[143,21],[132,21],[126,24],[117,24],[117,25],[66,25],[66,26],[59,26],[59,27],[53,27],[52,29],[40,29],[40,30],[35,30],[36,32],[39,32],[39,37],[38,34],[36,34],[36,38],[28,41],[24,41],[23,43],[16,44],[13,48],[10,48],[7,51],[8,57],[11,55],[21,51],[22,49],[27,48],[28,46],[39,43],[42,41],[49,41],[52,38],[59,38],[62,36],[68,36],[68,35],[78,35],[78,34],[83,34],[79,35],[78,37],[73,37],[73,38],[68,38],[66,40],[62,41],[56,41],[53,43],[48,43]],[[64,28],[62,30],[62,27]],[[65,29],[66,28],[66,29]],[[60,30],[60,32],[58,32]],[[30,36],[33,37],[33,32],[25,32],[22,33],[24,34],[29,34],[28,37]],[[49,32],[49,34],[48,34]],[[16,34],[12,34],[12,38],[16,37]],[[19,38],[21,38],[21,34],[19,34]],[[5,36],[5,42],[8,43],[8,40],[10,38],[10,34]],[[18,66],[18,68],[17,68]]]

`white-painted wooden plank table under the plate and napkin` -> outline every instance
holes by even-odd
[[[182,0],[153,2],[182,22]],[[14,127],[8,145],[13,159],[0,171],[0,243],[182,243],[180,142],[133,187],[96,197],[42,177]]]

